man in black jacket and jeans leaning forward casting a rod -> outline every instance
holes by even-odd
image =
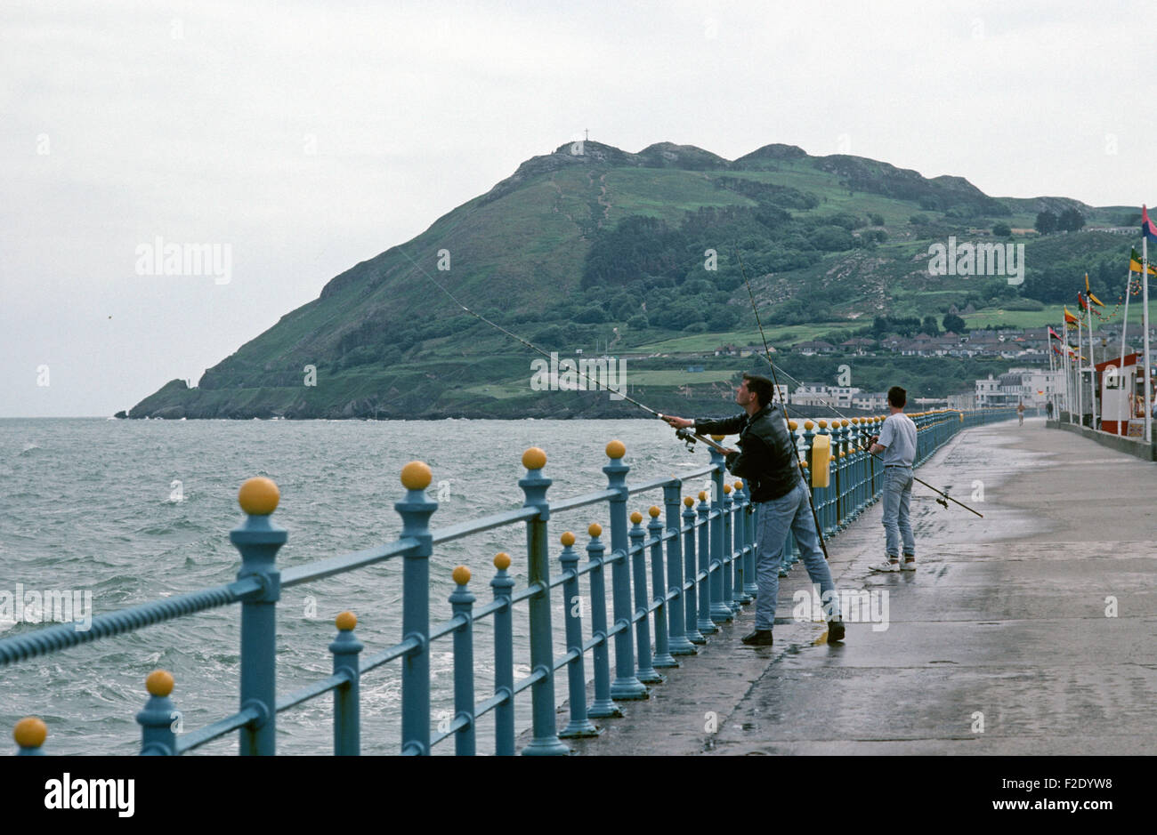
[[[772,380],[762,375],[745,374],[735,401],[744,414],[723,420],[687,420],[663,415],[677,429],[694,426],[697,434],[739,435],[742,451],[728,450],[727,468],[751,487],[751,501],[759,507],[757,523],[756,630],[743,637],[745,644],[769,646],[775,623],[775,598],[780,591],[780,563],[788,531],[796,544],[813,583],[819,583],[825,611],[831,615],[828,643],[843,640],[839,599],[832,572],[827,568],[819,535],[811,517],[808,486],[799,474],[799,464],[783,412],[773,406]]]

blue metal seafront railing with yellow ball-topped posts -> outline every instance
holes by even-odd
[[[1005,420],[1012,409],[980,412],[930,412],[912,415],[919,430],[919,457],[922,464],[963,428]],[[801,466],[812,472],[818,464],[812,453],[817,435],[831,435],[828,486],[813,487],[817,513],[825,535],[843,530],[865,508],[879,498],[879,464],[861,446],[864,436],[878,431],[883,419],[853,419],[832,422],[806,421],[801,428],[791,421],[798,438]],[[818,431],[816,429],[818,428]],[[309,700],[333,693],[333,749],[336,754],[358,754],[361,749],[360,682],[367,673],[399,660],[401,667],[401,753],[429,754],[433,746],[454,737],[457,754],[474,754],[479,719],[493,712],[496,754],[515,753],[515,697],[531,692],[531,741],[523,754],[567,754],[562,739],[597,736],[591,718],[620,716],[616,701],[647,699],[648,685],[659,683],[661,668],[679,666],[677,657],[694,655],[706,635],[718,631],[718,623],[730,621],[740,606],[751,603],[756,588],[756,511],[750,492],[742,481],[724,482],[723,458],[710,452],[710,464],[684,479],[670,478],[628,486],[626,449],[612,441],[606,446],[609,464],[603,467],[607,487],[603,490],[558,502],[546,498],[551,479],[543,474],[546,453],[526,450],[526,475],[518,481],[523,507],[464,522],[434,532],[429,519],[437,503],[426,495],[432,474],[421,461],[403,470],[405,497],[395,504],[403,520],[397,541],[385,546],[316,561],[286,569],[277,568],[280,547],[287,532],[270,520],[279,494],[268,479],[250,479],[242,486],[238,501],[245,519],[229,539],[241,553],[241,570],[235,582],[164,600],[149,601],[93,618],[91,628],[76,631],[73,625],[58,625],[34,633],[0,640],[0,666],[15,664],[97,638],[132,631],[162,621],[182,618],[218,606],[241,604],[241,708],[236,714],[196,731],[178,736],[179,716],[170,699],[174,680],[163,670],[146,679],[149,697],[137,715],[141,725],[141,753],[175,755],[237,732],[239,753],[273,754],[277,751],[277,715]],[[710,490],[681,496],[687,479],[710,475]],[[662,508],[653,505],[649,522],[643,515],[627,513],[632,495],[661,489]],[[588,529],[585,562],[574,545],[573,533],[560,541],[560,572],[551,577],[547,524],[552,512],[607,503],[610,554],[602,525]],[[665,512],[663,522],[659,516]],[[449,597],[451,618],[429,623],[429,557],[435,545],[525,523],[528,545],[526,588],[515,590],[510,577],[510,556],[494,557],[496,574],[491,581],[493,600],[476,606],[469,589],[471,572],[459,566],[452,572],[455,588]],[[786,572],[798,559],[784,549]],[[650,590],[647,560],[650,557]],[[275,692],[277,621],[275,606],[287,586],[320,579],[400,557],[403,568],[401,641],[367,658],[354,635],[356,616],[338,615],[338,634],[329,645],[333,673],[280,699]],[[611,621],[606,611],[606,568],[611,570]],[[587,577],[590,598],[590,631],[584,638],[580,578]],[[552,638],[552,590],[561,589],[566,652],[554,655]],[[514,652],[514,606],[526,601],[529,608],[530,674],[516,681]],[[493,694],[481,702],[474,694],[474,626],[492,619],[494,634]],[[634,635],[632,635],[632,630]],[[430,644],[451,636],[454,656],[454,717],[441,723],[436,736],[430,727]],[[653,648],[654,638],[654,648]],[[614,645],[614,678],[611,677],[610,646]],[[594,701],[587,704],[587,658],[594,675]],[[569,721],[562,731],[555,727],[555,673],[567,672]],[[444,726],[443,726],[444,725]],[[20,754],[39,754],[46,727],[36,717],[17,723],[15,738]]]

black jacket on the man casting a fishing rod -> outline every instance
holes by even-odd
[[[717,421],[697,420],[695,431],[739,436],[740,451],[727,457],[727,468],[746,480],[753,502],[786,496],[801,479],[788,424],[779,406],[764,406],[750,416],[744,412]]]

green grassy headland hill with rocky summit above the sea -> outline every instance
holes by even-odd
[[[531,390],[535,354],[465,315],[435,281],[561,356],[639,355],[631,382],[656,402],[714,406],[750,361],[687,374],[686,357],[663,355],[759,343],[744,272],[780,349],[877,315],[939,317],[952,304],[977,309],[971,326],[1042,324],[1057,320],[1059,303],[1073,304],[1084,272],[1112,304],[1130,238],[1091,227],[1136,214],[1066,198],[997,199],[963,178],[790,146],[736,161],[670,143],[639,154],[595,142],[573,150],[526,161],[414,239],[333,278],[197,387],[175,380],[131,416],[638,414],[604,393]],[[933,243],[978,239],[997,222],[1027,228],[1037,212],[1071,207],[1088,230],[1009,239],[1025,244],[1020,286],[929,274]],[[1041,309],[1017,309],[1025,306]],[[964,384],[942,376],[944,391],[921,393]]]

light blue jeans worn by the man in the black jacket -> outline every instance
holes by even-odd
[[[808,488],[801,480],[786,496],[759,504],[756,532],[756,545],[759,548],[756,554],[756,584],[759,588],[756,596],[756,629],[771,629],[775,623],[775,598],[780,593],[780,564],[783,562],[783,544],[788,531],[795,534],[808,576],[812,583],[819,583],[820,600],[831,607],[830,618],[840,616],[835,584],[819,547],[819,535],[808,504]]]

